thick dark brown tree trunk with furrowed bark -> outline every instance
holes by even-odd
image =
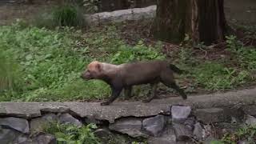
[[[226,33],[223,0],[158,0],[154,37],[182,42],[186,34],[194,42],[222,42]]]

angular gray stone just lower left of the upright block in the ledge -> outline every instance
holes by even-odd
[[[158,136],[162,133],[166,125],[166,118],[163,115],[157,115],[153,118],[146,118],[142,122],[143,129],[152,136]]]

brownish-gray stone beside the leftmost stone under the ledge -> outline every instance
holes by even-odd
[[[50,122],[57,122],[58,116],[56,114],[46,114],[41,118],[33,118],[30,121],[31,132],[42,131],[44,126],[48,126]]]

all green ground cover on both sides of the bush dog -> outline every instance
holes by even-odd
[[[234,37],[228,37],[227,43],[235,65],[230,65],[228,59],[205,61],[197,58],[189,45],[180,48],[175,62],[187,73],[178,77],[178,82],[181,86],[190,82],[187,92],[198,88],[230,90],[254,80],[256,49],[243,46]],[[205,48],[203,44],[200,47]],[[104,99],[110,95],[110,87],[105,82],[79,78],[89,62],[120,64],[164,59],[166,55],[161,48],[161,42],[154,46],[147,46],[142,41],[136,46],[127,45],[116,26],[91,28],[84,34],[67,27],[47,30],[20,23],[1,26],[0,101]],[[134,90],[137,95],[144,91]]]

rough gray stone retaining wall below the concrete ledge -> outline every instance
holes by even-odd
[[[216,134],[221,135],[226,127],[256,124],[256,118],[254,118],[256,116],[256,105],[202,109],[176,105],[168,106],[165,110],[159,110],[158,114],[116,117],[113,121],[110,121],[109,118],[95,118],[94,115],[98,115],[97,112],[90,114],[90,116],[81,117],[75,111],[72,111],[72,107],[56,106],[47,102],[38,105],[38,108],[36,108],[36,110],[39,110],[38,113],[28,115],[27,113],[32,114],[31,111],[33,110],[30,112],[26,110],[30,110],[32,105],[34,105],[33,102],[18,105],[23,106],[21,109],[24,112],[22,110],[15,112],[18,107],[9,109],[14,106],[14,103],[11,102],[2,105],[7,107],[6,112],[1,110],[0,142],[2,144],[56,143],[54,135],[42,132],[42,126],[53,121],[70,123],[76,126],[93,122],[98,124],[98,130],[95,131],[95,134],[99,137],[107,137],[118,132],[119,134],[129,135],[131,138],[146,138],[146,141],[151,144],[210,143],[210,141],[218,138]],[[154,110],[154,107],[151,109]],[[12,113],[10,110],[13,110]],[[106,111],[106,114],[108,113]]]

